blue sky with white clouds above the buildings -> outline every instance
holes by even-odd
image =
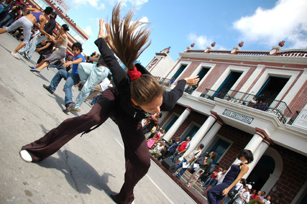
[[[90,39],[84,53],[98,51],[94,44],[98,19],[110,19],[116,0],[66,0],[67,13]],[[139,60],[147,65],[164,48],[171,47],[176,61],[179,52],[195,42],[194,49],[231,50],[244,41],[242,50],[271,50],[285,40],[282,49],[307,48],[306,0],[205,1],[124,0],[123,13],[135,8],[136,17],[151,23],[151,45]]]

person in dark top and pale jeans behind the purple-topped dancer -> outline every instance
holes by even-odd
[[[46,31],[46,33],[48,33],[49,35],[52,35],[53,33],[53,29],[55,28],[56,26],[56,12],[51,12],[51,14],[49,15],[50,17],[50,20],[47,22],[47,24],[45,25],[45,27],[43,27],[43,30]],[[19,50],[19,54],[20,55],[23,55],[26,59],[30,60],[33,53],[35,52],[36,50],[36,46],[41,43],[42,40],[46,40],[47,37],[44,35],[44,34],[39,34],[39,35],[36,35],[34,36],[30,42],[23,48],[21,48]],[[27,54],[28,52],[28,54]]]

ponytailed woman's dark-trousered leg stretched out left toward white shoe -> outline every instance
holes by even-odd
[[[108,89],[100,96],[90,112],[64,120],[58,127],[49,131],[39,140],[23,146],[21,150],[27,150],[30,153],[32,162],[39,162],[54,154],[77,134],[90,129],[96,124],[103,123],[114,107],[114,94],[111,89]]]

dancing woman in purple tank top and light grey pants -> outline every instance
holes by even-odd
[[[28,11],[31,11],[31,13],[27,15]],[[43,12],[35,8],[26,8],[25,13],[24,13],[26,16],[23,16],[19,18],[18,20],[16,20],[15,22],[13,22],[11,26],[4,27],[0,30],[0,34],[3,34],[6,32],[11,32],[13,30],[16,30],[19,27],[24,28],[24,41],[21,42],[17,46],[17,48],[15,48],[13,52],[11,52],[11,55],[13,57],[19,59],[17,52],[21,48],[23,48],[26,44],[29,43],[29,40],[31,37],[31,29],[34,24],[40,23],[40,28],[39,28],[40,33],[45,34],[46,36],[50,37],[50,35],[46,33],[46,31],[43,30],[43,27],[45,26],[47,22],[46,16],[50,15],[52,11],[53,11],[52,7],[46,7],[46,9],[43,10]]]

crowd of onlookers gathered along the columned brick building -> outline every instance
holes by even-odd
[[[196,150],[184,156],[183,160],[179,162],[179,158],[190,147],[191,137],[186,137],[183,141],[176,138],[173,141],[170,140],[166,145],[167,142],[161,140],[166,131],[159,127],[160,117],[161,114],[156,114],[142,121],[149,153],[159,162],[168,158],[173,164],[176,164],[176,169],[180,170],[176,174],[177,178],[180,178],[185,171],[189,171],[192,175],[185,183],[187,188],[191,188],[198,180],[202,183],[201,187],[204,188],[204,191],[221,184],[227,168],[223,169],[219,163],[214,163],[217,153],[214,151],[210,153],[203,152],[204,145],[200,144]],[[271,196],[266,196],[265,191],[261,192],[253,189],[252,184],[247,184],[246,179],[242,178],[236,184],[234,192],[225,196],[223,203],[243,204],[249,203],[250,200],[253,200],[253,203],[270,204]],[[279,200],[274,203],[278,204]]]

